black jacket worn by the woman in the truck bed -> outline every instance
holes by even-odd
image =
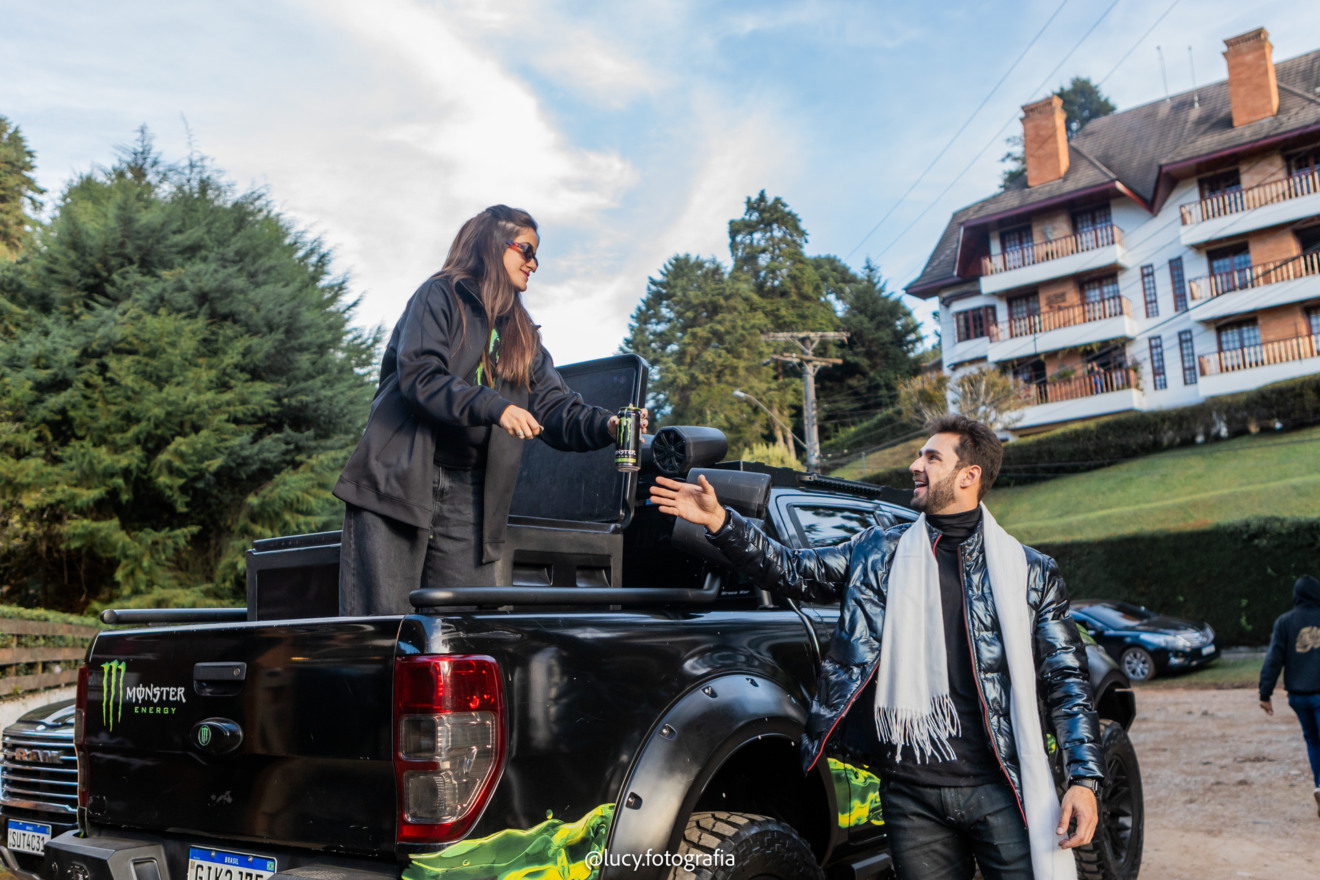
[[[515,404],[536,417],[545,429],[540,439],[554,449],[590,451],[614,442],[612,413],[569,391],[544,347],[532,364],[529,388],[475,384],[490,327],[475,290],[466,282],[457,286],[455,296],[447,281],[429,278],[408,301],[380,361],[367,427],[334,487],[335,497],[348,504],[422,529],[430,528],[437,434],[470,442],[499,425]],[[490,431],[483,562],[503,554],[524,442],[504,430]]]

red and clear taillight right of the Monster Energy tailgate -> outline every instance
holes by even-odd
[[[414,654],[395,661],[399,840],[462,836],[504,765],[504,685],[492,657]]]

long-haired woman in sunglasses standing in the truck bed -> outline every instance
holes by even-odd
[[[488,207],[408,301],[334,488],[339,613],[408,613],[421,587],[496,586],[523,443],[614,442],[618,417],[569,391],[523,305],[539,248],[527,211]]]

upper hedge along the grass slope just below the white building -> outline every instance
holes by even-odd
[[[1006,443],[995,486],[1081,474],[1179,446],[1317,422],[1320,375],[1303,376],[1191,406],[1123,413]],[[907,468],[878,471],[862,479],[878,486],[912,484]]]

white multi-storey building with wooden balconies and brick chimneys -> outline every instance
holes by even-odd
[[[944,368],[995,364],[1031,434],[1320,372],[1320,51],[1226,40],[1228,79],[1089,123],[1023,107],[1024,181],[957,211],[907,293]]]

